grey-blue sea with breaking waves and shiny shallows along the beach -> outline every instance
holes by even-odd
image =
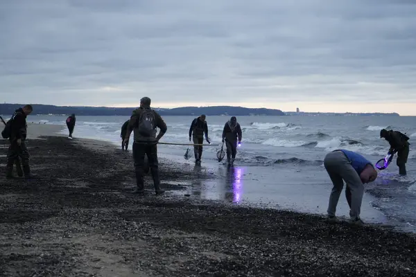
[[[168,132],[162,141],[189,143],[189,125],[193,118],[164,117]],[[64,116],[29,116],[28,121],[64,125],[65,119]],[[120,145],[120,128],[127,119],[123,116],[78,116],[73,136]],[[228,119],[207,116],[213,144],[220,144],[223,125]],[[366,185],[362,217],[366,221],[387,222],[407,231],[416,231],[416,152],[413,151],[416,117],[239,116],[237,119],[243,129],[243,144],[234,172],[230,173],[226,166],[216,161],[219,146],[205,147],[202,168],[196,170],[210,170],[214,181],[198,184],[196,180],[189,186],[192,197],[325,213],[331,182],[322,166],[324,155],[344,148],[359,152],[375,163],[387,154],[388,143],[379,138],[379,131],[388,127],[410,136],[408,176],[398,176],[395,159],[389,168],[379,172],[379,178]],[[183,158],[187,148],[159,145],[159,153],[175,161],[193,163],[193,158],[189,161]],[[338,212],[348,214],[343,195]]]

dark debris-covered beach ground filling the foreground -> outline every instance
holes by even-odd
[[[62,137],[28,146],[40,179],[0,177],[1,276],[415,276],[413,234],[155,196],[150,178],[139,197],[131,154]],[[196,177],[162,163],[164,181]]]

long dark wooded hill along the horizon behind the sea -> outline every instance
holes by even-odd
[[[12,114],[15,109],[24,106],[23,104],[0,104],[0,114]],[[116,107],[70,107],[54,105],[33,105],[33,115],[47,114],[76,114],[77,116],[130,116],[133,107],[116,108]],[[153,108],[162,116],[198,116],[206,114],[207,116],[284,116],[280,109],[252,109],[245,107],[215,106],[215,107],[178,107],[173,109]]]

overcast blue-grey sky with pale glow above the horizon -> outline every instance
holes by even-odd
[[[0,1],[6,102],[416,114],[415,0]]]

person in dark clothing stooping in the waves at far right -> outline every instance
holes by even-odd
[[[381,129],[380,138],[384,138],[390,144],[388,154],[395,154],[397,152],[396,164],[399,167],[399,175],[406,175],[406,163],[409,155],[408,136],[401,134],[401,132]]]

